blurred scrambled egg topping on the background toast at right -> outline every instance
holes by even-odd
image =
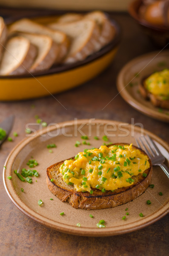
[[[169,99],[169,70],[156,72],[145,80],[146,89],[155,95]]]

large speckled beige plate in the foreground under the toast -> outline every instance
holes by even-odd
[[[90,125],[91,122],[92,125]],[[21,141],[9,155],[5,163],[6,169],[3,171],[4,185],[11,201],[23,213],[47,227],[82,236],[111,236],[127,233],[145,227],[166,215],[169,210],[169,179],[157,166],[153,167],[152,183],[155,184],[153,189],[148,188],[135,200],[112,209],[74,209],[69,203],[61,202],[49,191],[46,185],[46,168],[74,156],[83,148],[99,147],[103,144],[102,137],[106,130],[109,134],[109,142],[112,143],[124,142],[136,145],[135,138],[140,136],[139,127],[134,128],[111,120],[86,119],[63,122],[57,125],[57,128],[56,126],[44,128],[36,136]],[[80,131],[83,132],[82,135],[89,135],[90,146],[80,145],[78,148],[74,146],[76,140],[82,142]],[[152,133],[144,132],[155,140],[163,155],[169,160],[169,145]],[[100,139],[94,140],[94,136]],[[49,153],[49,149],[46,148],[50,143],[57,145],[57,148],[53,148],[53,153]],[[39,163],[36,169],[40,176],[33,177],[33,183],[29,184],[20,181],[14,174],[14,169],[20,172],[22,168],[27,168],[26,163],[31,156]],[[7,178],[9,175],[12,176],[11,180]],[[21,187],[24,192],[20,191]],[[159,192],[163,192],[163,195],[160,196]],[[50,198],[53,198],[53,201]],[[39,199],[43,201],[43,206],[37,204]],[[152,204],[147,205],[147,200]],[[129,215],[126,216],[126,220],[122,220],[126,208],[129,208]],[[64,212],[65,215],[61,216],[60,212]],[[143,213],[143,218],[139,216],[140,212]],[[94,218],[90,218],[89,214]],[[100,219],[106,221],[106,228],[97,228],[96,224]],[[81,227],[77,227],[77,223],[80,223]]]

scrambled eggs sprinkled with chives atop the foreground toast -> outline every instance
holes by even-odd
[[[85,149],[73,160],[65,160],[60,166],[63,180],[74,185],[76,191],[91,192],[93,188],[115,190],[130,186],[132,176],[149,168],[148,157],[130,145],[100,146]]]

